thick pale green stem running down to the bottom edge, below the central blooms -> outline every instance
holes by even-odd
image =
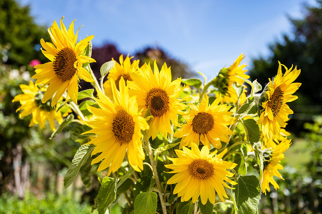
[[[161,185],[160,185],[160,180],[159,180],[158,172],[156,171],[156,164],[154,162],[152,148],[151,148],[149,139],[147,138],[147,135],[146,135],[145,132],[143,134],[143,141],[144,141],[144,144],[145,144],[145,146],[144,146],[145,151],[147,152],[147,155],[149,156],[150,163],[151,163],[151,167],[152,167],[152,171],[154,173],[154,180],[156,181],[156,187],[157,187],[157,190],[159,192],[160,202],[161,202],[161,206],[162,206],[162,211],[163,211],[163,214],[166,214],[167,213],[166,212],[166,204],[164,202],[165,199],[164,199],[164,196],[162,194],[162,190],[161,190]]]

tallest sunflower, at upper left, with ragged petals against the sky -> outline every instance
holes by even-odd
[[[60,22],[61,29],[59,29],[56,21],[48,28],[53,44],[45,42],[43,39],[40,40],[43,46],[42,52],[50,62],[35,65],[36,74],[32,77],[37,79],[36,83],[38,85],[43,84],[42,87],[48,85],[43,96],[43,103],[47,102],[56,93],[51,102],[52,106],[56,105],[66,89],[67,99],[70,97],[77,104],[79,77],[87,82],[94,81],[90,73],[82,67],[82,63],[95,62],[95,60],[81,55],[94,35],[88,36],[76,44],[79,29],[74,34],[75,20],[72,21],[67,31],[62,19]]]

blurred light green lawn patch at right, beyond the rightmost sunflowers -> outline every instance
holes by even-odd
[[[296,168],[299,173],[308,173],[304,165],[310,161],[310,149],[309,142],[305,138],[294,138],[284,155],[282,163]]]

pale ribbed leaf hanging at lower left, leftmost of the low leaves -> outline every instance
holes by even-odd
[[[81,166],[87,161],[90,157],[90,154],[94,150],[95,146],[93,145],[81,145],[74,155],[71,165],[64,176],[64,188],[65,190],[71,185],[71,183],[76,178]]]

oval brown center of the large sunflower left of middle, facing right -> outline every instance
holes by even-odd
[[[130,142],[134,133],[133,117],[124,110],[118,111],[113,119],[112,131],[120,144]]]

